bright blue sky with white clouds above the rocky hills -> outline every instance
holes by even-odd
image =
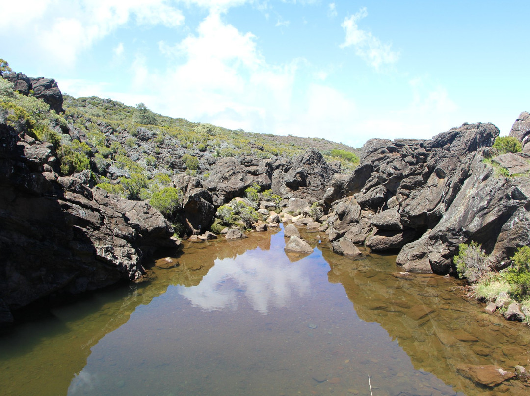
[[[19,0],[0,58],[63,93],[360,147],[530,111],[525,1]]]

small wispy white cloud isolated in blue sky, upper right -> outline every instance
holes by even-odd
[[[358,13],[346,17],[342,22],[342,29],[346,32],[346,40],[341,44],[341,48],[355,47],[355,53],[368,65],[376,70],[384,64],[394,64],[399,59],[399,52],[391,50],[391,44],[383,44],[381,40],[374,37],[372,33],[359,29],[357,22],[368,15],[366,7]]]

